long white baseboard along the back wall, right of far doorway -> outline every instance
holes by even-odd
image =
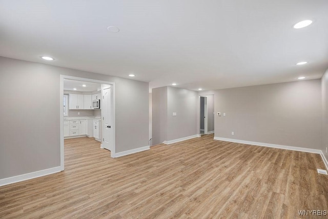
[[[275,145],[275,144],[260,143],[260,142],[249,142],[249,141],[224,138],[224,137],[214,137],[214,140],[219,140],[219,141],[224,141],[224,142],[235,142],[235,143],[256,145],[256,146],[263,146],[263,147],[270,147],[270,148],[280,148],[280,149],[293,150],[293,151],[302,151],[302,152],[310,152],[310,153],[318,153],[318,154],[322,153],[321,150],[311,149],[311,148],[300,148],[300,147]]]

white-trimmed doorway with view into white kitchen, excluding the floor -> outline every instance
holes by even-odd
[[[75,137],[94,137],[115,157],[115,83],[60,75],[61,170],[64,139]]]

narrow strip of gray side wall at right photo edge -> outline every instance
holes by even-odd
[[[326,148],[328,147],[328,70],[321,78],[322,89],[322,152],[328,160],[328,153]]]

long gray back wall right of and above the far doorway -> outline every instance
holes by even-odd
[[[209,94],[226,113],[215,115],[216,137],[321,149],[319,79],[199,92]]]

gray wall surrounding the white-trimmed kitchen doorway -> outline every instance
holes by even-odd
[[[60,166],[60,74],[115,82],[116,152],[148,145],[148,83],[0,57],[0,179]]]

